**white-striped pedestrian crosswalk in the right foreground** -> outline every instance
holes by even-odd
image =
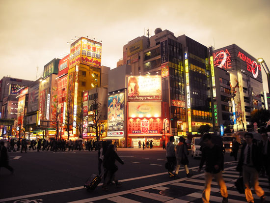
[[[235,181],[239,177],[239,173],[235,170],[235,167],[230,167],[223,173],[223,178],[225,180],[229,203],[246,203],[245,195],[239,194],[235,188]],[[260,177],[260,186],[264,189],[267,196],[267,202],[270,202],[270,190],[269,182],[267,178]],[[115,194],[112,197],[104,197],[104,199],[99,198],[97,201],[88,201],[91,203],[201,203],[202,191],[204,189],[204,174],[194,175],[191,178],[181,178],[179,181],[167,182],[164,185],[160,184],[158,187],[142,189],[140,191],[134,191],[130,193],[120,193]],[[222,197],[219,192],[219,187],[213,179],[211,185],[211,203],[221,203]],[[253,197],[255,203],[260,202],[260,197],[258,197],[254,191]],[[81,201],[83,202],[83,201]]]

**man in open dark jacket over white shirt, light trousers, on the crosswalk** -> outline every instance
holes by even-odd
[[[245,144],[241,149],[241,155],[237,166],[237,171],[243,173],[245,186],[245,198],[248,203],[254,203],[250,188],[253,187],[255,193],[261,198],[261,203],[266,200],[264,190],[259,186],[259,171],[262,168],[262,153],[259,147],[253,142],[253,134],[244,135]]]

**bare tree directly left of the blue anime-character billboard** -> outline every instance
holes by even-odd
[[[102,121],[102,104],[98,102],[97,93],[94,94],[94,99],[92,101],[90,111],[92,112],[90,114],[90,120],[93,121],[92,124],[89,125],[89,127],[92,127],[96,131],[96,138],[97,141],[100,140],[102,136],[102,127],[104,126],[104,121]]]

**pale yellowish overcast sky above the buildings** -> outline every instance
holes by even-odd
[[[237,44],[270,67],[270,0],[0,0],[0,79],[36,80],[75,36],[102,40],[101,63],[115,68],[148,28],[216,49]],[[268,91],[264,71],[263,82]]]

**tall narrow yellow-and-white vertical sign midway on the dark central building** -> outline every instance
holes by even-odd
[[[191,107],[190,107],[190,91],[189,91],[189,60],[187,52],[185,53],[185,72],[186,72],[186,86],[187,86],[188,123],[189,123],[189,132],[191,132],[192,126],[191,126]]]

